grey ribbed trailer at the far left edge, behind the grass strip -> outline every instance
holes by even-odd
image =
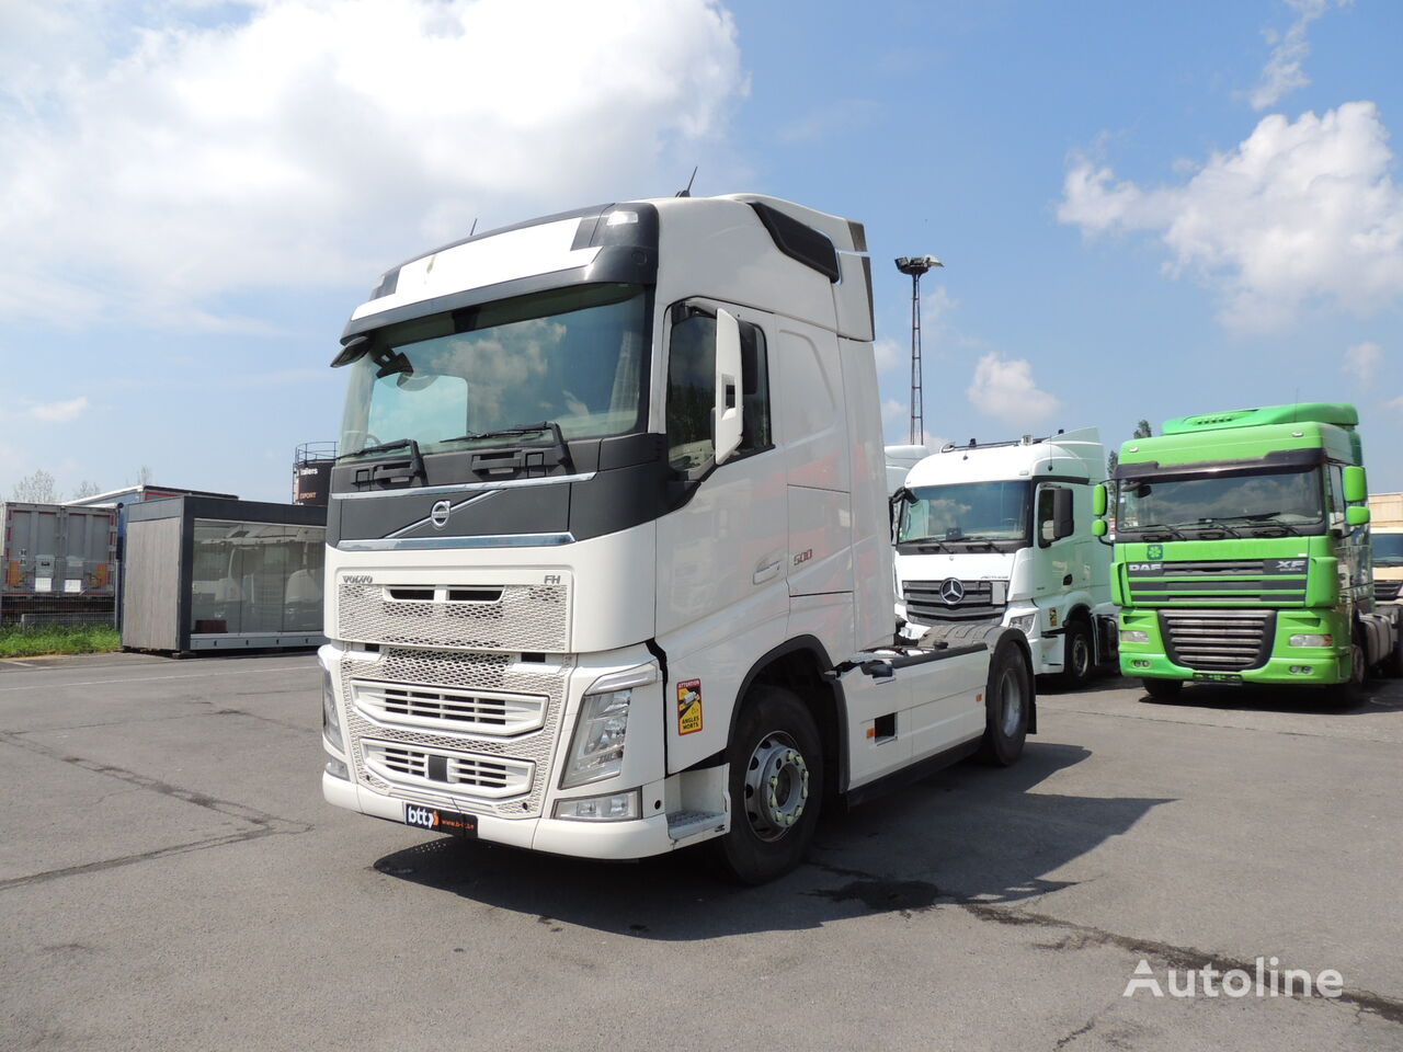
[[[63,621],[115,598],[114,508],[0,504],[0,620]]]

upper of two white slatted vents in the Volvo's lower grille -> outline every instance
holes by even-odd
[[[431,690],[359,680],[352,690],[352,701],[365,715],[398,727],[448,727],[466,734],[509,736],[535,731],[546,720],[547,700],[539,694]]]

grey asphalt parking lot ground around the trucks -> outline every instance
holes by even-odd
[[[0,1048],[1403,1048],[1403,683],[1141,699],[741,889],[325,805],[311,655],[0,662]],[[1170,992],[1257,958],[1343,994]]]

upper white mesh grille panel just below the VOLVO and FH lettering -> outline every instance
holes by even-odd
[[[542,654],[570,649],[570,585],[564,582],[476,592],[342,581],[337,603],[338,638],[354,642]]]

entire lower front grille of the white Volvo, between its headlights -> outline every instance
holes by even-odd
[[[459,811],[505,818],[539,816],[571,668],[568,661],[561,659],[537,662],[521,661],[515,654],[462,654],[398,647],[363,656],[344,656],[340,662],[341,696],[351,700],[344,711],[355,777],[376,793],[415,804],[445,807],[445,795],[450,795],[452,805]],[[401,693],[396,694],[397,690]],[[373,707],[382,703],[372,703],[368,708],[358,704],[358,697],[372,694],[389,699],[391,708],[407,708],[410,713],[390,713],[394,718],[382,720],[373,715]],[[405,697],[407,694],[422,697]],[[435,696],[448,706],[449,718],[434,720],[427,715],[435,706]],[[544,711],[537,729],[505,736],[495,727],[470,727],[453,718],[460,714],[453,710],[463,699],[502,696],[515,700],[543,699]],[[415,710],[415,722],[410,722]],[[498,791],[494,784],[474,784],[466,778],[456,783],[425,780],[412,770],[407,773],[387,766],[383,756],[372,764],[372,750],[386,746],[414,755],[498,763],[518,771],[529,766],[540,777],[533,776],[525,781],[509,778],[504,791]]]

